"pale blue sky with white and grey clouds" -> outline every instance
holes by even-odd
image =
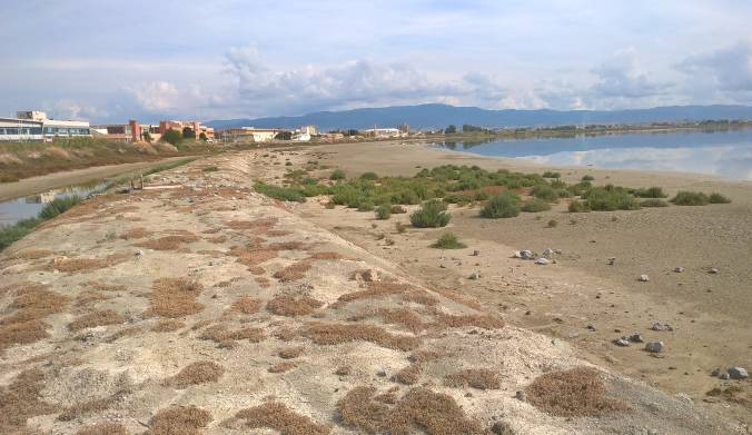
[[[746,0],[7,1],[0,116],[752,105],[751,22]]]

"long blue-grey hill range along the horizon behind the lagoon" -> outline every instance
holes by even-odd
[[[412,129],[444,128],[448,125],[496,127],[564,126],[577,123],[646,123],[705,119],[752,119],[746,106],[670,106],[634,110],[486,110],[448,105],[393,106],[343,111],[318,111],[299,117],[228,119],[206,122],[221,129],[229,127],[296,128],[306,125],[320,130],[363,129],[374,126],[396,127],[408,123]]]

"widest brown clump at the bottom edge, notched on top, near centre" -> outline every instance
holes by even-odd
[[[350,427],[368,434],[408,435],[418,431],[427,434],[485,434],[481,425],[469,419],[457,403],[446,394],[427,388],[413,388],[395,406],[377,402],[376,388],[356,387],[337,402],[337,413]]]

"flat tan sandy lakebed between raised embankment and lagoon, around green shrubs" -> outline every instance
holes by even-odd
[[[477,207],[453,208],[447,228],[467,249],[438,251],[428,248],[444,230],[410,229],[395,233],[394,223],[373,214],[337,207],[328,210],[306,204],[307,219],[344,238],[406,267],[428,285],[457,289],[496,305],[512,323],[574,344],[597,364],[642,378],[671,392],[684,393],[699,403],[752,423],[752,390],[742,403],[728,403],[706,393],[724,385],[710,374],[714,368],[752,366],[752,184],[715,177],[543,168],[526,161],[486,158],[433,150],[419,145],[372,144],[317,147],[320,161],[349,176],[364,171],[408,176],[420,167],[478,165],[486,169],[521,171],[558,170],[566,181],[593,175],[596,184],[629,187],[662,186],[719,191],[731,205],[646,208],[635,211],[570,214],[566,205],[513,219],[478,217]],[[408,223],[406,216],[394,216]],[[555,228],[548,228],[550,220]],[[376,225],[376,228],[372,228]],[[387,235],[395,241],[378,240]],[[509,258],[513,251],[561,249],[557,264],[547,267]],[[471,257],[473,250],[479,257]],[[616,257],[613,266],[607,259]],[[675,267],[685,271],[676,274]],[[708,274],[716,267],[720,274]],[[474,270],[479,280],[466,279]],[[640,283],[646,274],[649,283]],[[655,322],[673,332],[653,332]],[[595,330],[587,327],[593,326]],[[645,340],[662,340],[667,352],[660,358],[639,349],[612,344],[614,338],[641,333]],[[744,398],[745,397],[745,398]]]

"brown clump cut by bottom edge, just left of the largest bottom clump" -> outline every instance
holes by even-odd
[[[310,417],[276,402],[243,409],[235,416],[245,419],[249,428],[268,427],[281,435],[327,435],[332,432],[329,427],[317,424]]]

